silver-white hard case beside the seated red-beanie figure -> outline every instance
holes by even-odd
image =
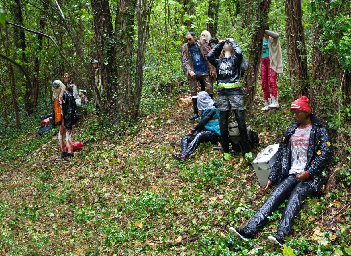
[[[261,187],[267,182],[271,167],[277,157],[278,147],[279,144],[269,145],[262,150],[252,162]]]

